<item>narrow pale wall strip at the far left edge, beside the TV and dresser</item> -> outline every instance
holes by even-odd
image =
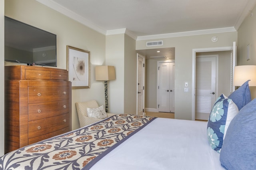
[[[4,27],[4,0],[0,0],[0,26]],[[4,92],[4,29],[0,29],[0,91]],[[4,95],[0,97],[0,156],[4,155]]]

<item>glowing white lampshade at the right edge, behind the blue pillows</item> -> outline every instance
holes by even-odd
[[[249,81],[249,86],[256,86],[256,65],[239,65],[234,70],[234,86],[241,86]]]

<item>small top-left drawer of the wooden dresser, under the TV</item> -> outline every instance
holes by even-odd
[[[50,80],[51,71],[26,69],[25,79]]]

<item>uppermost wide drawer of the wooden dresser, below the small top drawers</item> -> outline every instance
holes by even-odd
[[[28,87],[28,104],[66,100],[68,86]]]

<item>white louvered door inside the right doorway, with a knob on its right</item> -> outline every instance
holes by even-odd
[[[218,55],[196,57],[196,119],[208,120],[216,100]]]

